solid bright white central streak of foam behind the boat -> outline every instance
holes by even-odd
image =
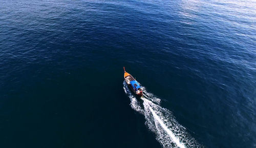
[[[172,140],[177,144],[177,146],[181,147],[181,148],[185,148],[185,145],[183,143],[180,142],[180,140],[178,138],[175,137],[174,133],[172,131],[170,131],[167,126],[163,123],[163,121],[160,119],[160,117],[154,112],[154,110],[150,107],[150,105],[148,104],[148,100],[142,98],[143,101],[145,103],[147,103],[148,108],[150,109],[151,113],[153,114],[153,116],[155,117],[155,119],[160,123],[160,125],[162,126],[162,128],[167,132],[167,134],[170,136],[170,138],[172,138]]]

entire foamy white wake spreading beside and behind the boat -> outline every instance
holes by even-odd
[[[161,99],[148,93],[145,87],[142,88],[143,103],[133,95],[126,82],[123,82],[123,89],[131,99],[132,109],[145,116],[145,124],[156,134],[156,139],[164,148],[203,147],[176,121],[172,112],[160,106]]]

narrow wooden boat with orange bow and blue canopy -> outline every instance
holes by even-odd
[[[129,73],[125,71],[125,68],[123,67],[124,70],[124,80],[127,83],[127,85],[130,87],[130,89],[139,97],[143,96],[142,88],[140,87],[140,84],[136,79]]]

